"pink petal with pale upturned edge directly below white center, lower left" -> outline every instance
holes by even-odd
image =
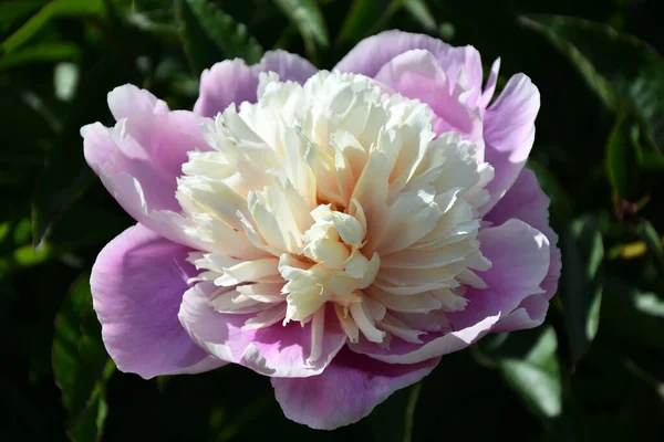
[[[242,330],[252,315],[221,314],[209,305],[212,283],[199,283],[185,293],[179,311],[191,338],[216,357],[243,365],[273,377],[303,378],[319,375],[344,346],[346,336],[333,312],[328,309],[321,357],[308,362],[311,324],[299,323]]]

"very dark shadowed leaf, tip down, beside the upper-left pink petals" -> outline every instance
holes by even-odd
[[[55,219],[94,180],[83,158],[81,127],[108,119],[106,95],[115,86],[136,83],[135,72],[121,61],[106,56],[83,72],[72,101],[66,124],[46,159],[32,198],[32,242],[37,246]]]

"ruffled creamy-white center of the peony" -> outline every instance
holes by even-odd
[[[190,152],[178,180],[187,234],[208,244],[189,260],[219,287],[210,305],[246,328],[311,322],[310,360],[326,308],[351,341],[446,329],[490,266],[476,209],[492,169],[432,120],[361,75],[263,74],[258,103],[219,114],[214,150]]]

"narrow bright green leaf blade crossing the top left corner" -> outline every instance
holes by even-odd
[[[55,17],[100,15],[104,10],[103,0],[53,0],[7,38],[0,44],[0,52],[12,52]]]

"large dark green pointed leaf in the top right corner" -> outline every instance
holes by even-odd
[[[664,151],[664,59],[646,43],[591,21],[561,15],[527,15],[520,22],[544,35],[579,69],[604,103],[624,102]]]

